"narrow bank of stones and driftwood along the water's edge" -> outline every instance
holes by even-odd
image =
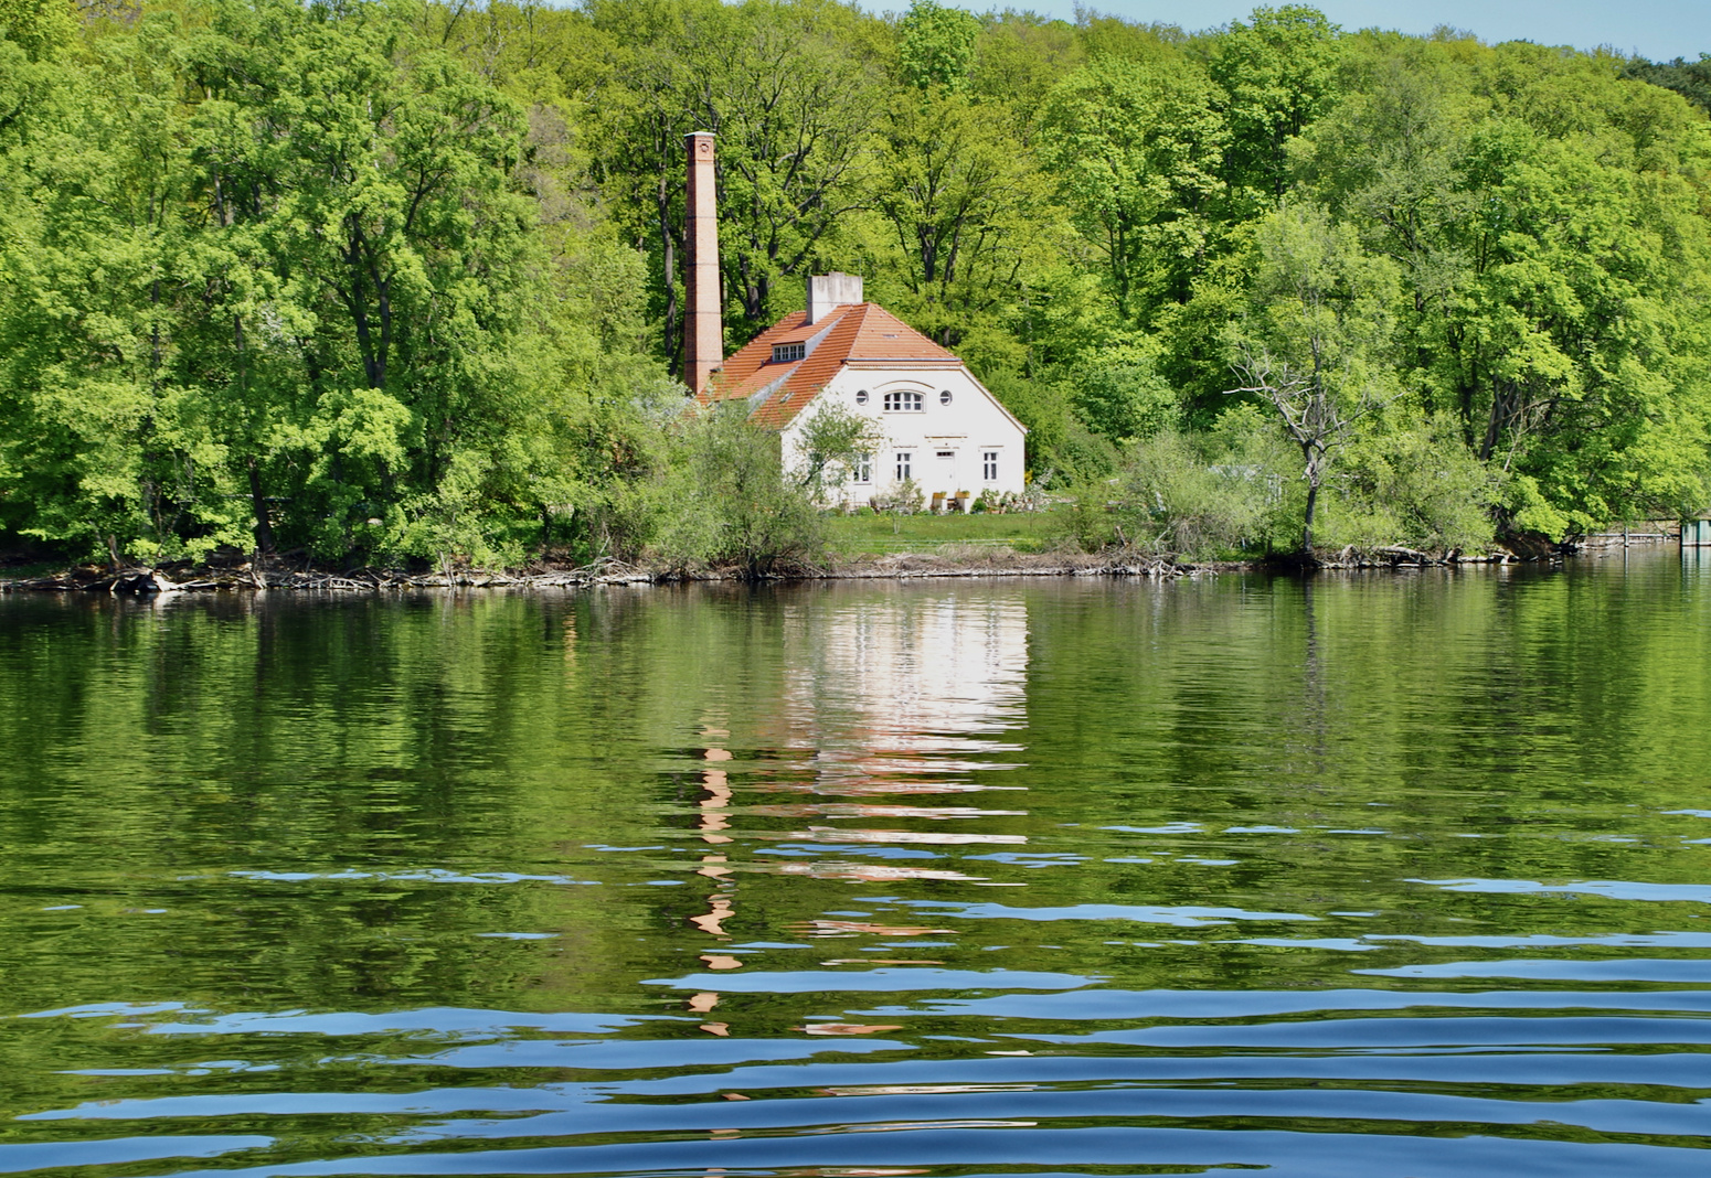
[[[683,573],[648,569],[616,561],[582,568],[537,566],[524,569],[455,569],[409,573],[404,569],[359,568],[329,569],[313,564],[255,568],[193,566],[188,562],[159,568],[130,566],[111,569],[84,564],[48,574],[0,578],[0,593],[110,593],[110,595],[176,595],[176,593],[265,593],[327,592],[327,593],[387,593],[419,590],[541,590],[589,588],[597,585],[686,585],[686,583],[741,583],[756,585],[801,581],[914,581],[914,580],[972,580],[1004,576],[1110,576],[1110,578],[1199,578],[1220,573],[1302,573],[1312,571],[1403,571],[1403,569],[1459,569],[1502,568],[1513,564],[1560,562],[1569,556],[1601,556],[1622,552],[1627,547],[1655,549],[1663,539],[1634,539],[1615,544],[1579,544],[1552,547],[1536,554],[1516,556],[1499,549],[1489,556],[1466,557],[1458,552],[1430,554],[1401,545],[1341,552],[1307,566],[1299,559],[1256,561],[1174,561],[1134,552],[1016,552],[998,549],[970,559],[967,554],[939,556],[934,552],[864,554],[833,557],[825,568],[794,568],[767,576],[744,576],[739,569],[705,569]]]

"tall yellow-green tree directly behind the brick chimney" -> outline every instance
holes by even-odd
[[[732,344],[790,309],[856,197],[867,133],[883,109],[878,53],[854,7],[833,0],[727,7],[592,0],[606,34],[590,113],[595,174],[621,224],[657,251],[662,347],[676,356],[683,255],[683,137],[719,135],[717,191],[725,321]]]

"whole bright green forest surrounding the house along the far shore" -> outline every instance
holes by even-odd
[[[765,439],[684,414],[691,130],[727,347],[866,275],[1081,544],[1697,513],[1708,103],[1711,58],[1299,5],[0,0],[0,549],[686,566],[811,528]]]

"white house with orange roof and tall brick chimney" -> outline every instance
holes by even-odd
[[[785,468],[804,460],[814,410],[838,405],[869,417],[883,439],[854,470],[828,472],[833,494],[861,504],[914,480],[932,501],[1023,489],[1027,427],[968,366],[876,303],[850,274],[808,280],[808,309],[784,316],[722,364],[713,137],[686,137],[690,265],[684,378],[703,403],[748,402],[749,419],[777,429]]]

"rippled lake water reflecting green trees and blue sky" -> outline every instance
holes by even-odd
[[[1711,564],[0,600],[0,1171],[1711,1173]]]

